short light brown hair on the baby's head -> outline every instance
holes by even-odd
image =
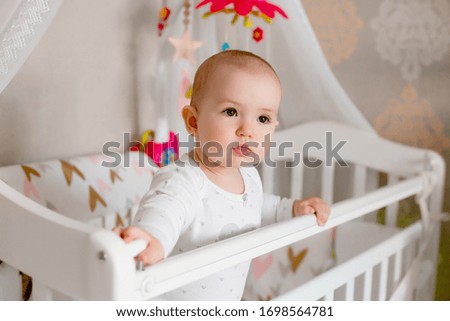
[[[271,74],[278,82],[280,82],[273,67],[263,58],[243,50],[222,51],[209,57],[198,67],[192,86],[191,106],[198,108],[199,102],[205,94],[211,75],[223,65],[238,67],[249,72]]]

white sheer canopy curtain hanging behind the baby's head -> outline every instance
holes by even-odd
[[[264,29],[264,39],[256,43],[251,39],[253,28],[245,28],[243,20],[232,26],[232,15],[215,14],[207,19],[201,16],[209,6],[194,10],[198,1],[191,1],[189,29],[195,40],[203,42],[196,51],[196,65],[187,61],[173,62],[175,52],[168,37],[180,38],[183,30],[184,8],[180,0],[167,1],[172,10],[169,26],[159,39],[157,70],[152,94],[160,115],[169,119],[169,128],[180,131],[183,124],[179,115],[179,84],[182,70],[192,75],[196,67],[210,55],[221,50],[225,40],[232,49],[249,50],[267,59],[277,70],[283,85],[280,109],[280,128],[312,120],[335,120],[358,128],[372,130],[358,108],[347,96],[334,77],[322,53],[300,0],[272,0],[283,8],[289,19],[277,15],[269,25],[252,17],[253,28]]]

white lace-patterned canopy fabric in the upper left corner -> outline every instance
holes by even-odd
[[[63,0],[0,0],[0,93],[33,51]]]

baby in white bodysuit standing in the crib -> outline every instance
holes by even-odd
[[[153,177],[133,226],[115,229],[125,242],[143,239],[144,265],[292,216],[329,207],[320,198],[263,194],[255,163],[264,159],[278,124],[280,80],[262,58],[229,50],[197,70],[190,106],[182,116],[196,146]],[[240,300],[250,262],[164,294],[164,300]]]

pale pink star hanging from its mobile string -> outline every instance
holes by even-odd
[[[181,38],[169,38],[170,43],[175,47],[175,55],[173,61],[178,59],[186,59],[192,65],[195,65],[194,51],[202,46],[201,41],[191,39],[189,34],[189,7],[191,6],[190,0],[184,1],[184,33]]]

